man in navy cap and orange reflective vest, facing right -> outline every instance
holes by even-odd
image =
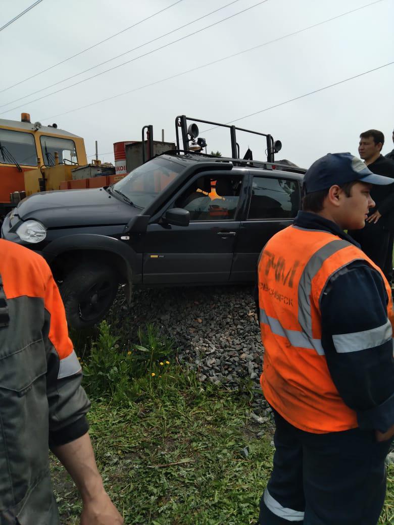
[[[304,179],[303,211],[258,263],[261,385],[275,417],[261,525],[376,525],[394,434],[391,288],[344,230],[364,227],[372,173],[327,154]]]

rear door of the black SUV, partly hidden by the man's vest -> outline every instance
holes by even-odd
[[[271,175],[271,174],[269,174]],[[281,172],[250,175],[249,206],[242,217],[235,246],[231,281],[254,281],[258,256],[273,235],[293,224],[300,207],[300,183]]]

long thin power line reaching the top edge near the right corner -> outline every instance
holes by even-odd
[[[312,29],[314,27],[317,27],[317,26],[320,26],[320,25],[323,25],[323,24],[326,24],[328,22],[332,22],[333,20],[336,20],[337,18],[340,18],[342,16],[345,16],[345,15],[348,15],[348,14],[351,14],[351,13],[354,13],[355,11],[359,10],[359,9],[364,9],[365,7],[368,7],[370,5],[373,5],[373,4],[377,4],[378,2],[382,2],[382,0],[377,0],[377,2],[372,2],[371,4],[367,4],[367,5],[364,5],[362,7],[358,7],[356,9],[352,9],[350,11],[347,11],[346,13],[342,13],[340,15],[337,15],[337,16],[334,16],[332,18],[328,18],[326,20],[323,20],[322,22],[318,22],[317,24],[313,24],[311,26],[308,26],[308,27],[304,27],[303,29],[298,29],[297,31],[294,31],[293,33],[288,33],[287,35],[284,35],[284,36],[281,36],[281,37],[278,37],[278,38],[275,38],[273,40],[268,40],[267,42],[264,42],[263,44],[259,44],[257,46],[254,46],[254,47],[250,47],[248,49],[244,49],[242,51],[239,51],[238,53],[234,53],[232,55],[227,55],[226,57],[222,57],[222,58],[219,58],[217,60],[213,60],[211,62],[208,62],[207,64],[203,64],[201,66],[196,66],[192,69],[187,69],[185,71],[182,71],[180,73],[177,73],[175,75],[171,75],[170,77],[165,77],[165,78],[162,78],[160,80],[156,80],[154,82],[150,82],[149,84],[146,84],[144,86],[139,86],[138,88],[133,88],[133,89],[130,89],[128,91],[123,91],[122,93],[118,93],[118,95],[113,95],[112,97],[107,97],[105,99],[101,99],[101,100],[98,100],[96,102],[91,102],[90,104],[86,104],[85,106],[80,106],[79,108],[74,108],[74,109],[71,109],[69,111],[65,111],[63,113],[58,113],[56,115],[53,115],[51,117],[45,117],[44,119],[42,120],[47,120],[47,119],[54,119],[56,117],[61,117],[63,115],[67,115],[68,113],[73,113],[74,111],[79,111],[81,109],[85,109],[85,108],[90,108],[91,106],[96,106],[96,104],[100,104],[102,102],[107,102],[108,100],[112,100],[112,99],[115,99],[115,98],[118,98],[118,97],[123,97],[125,95],[130,95],[130,93],[134,93],[136,91],[140,91],[141,89],[144,89],[144,88],[148,88],[148,87],[151,87],[151,86],[155,86],[161,82],[165,82],[167,80],[172,80],[174,78],[178,78],[178,77],[181,77],[183,75],[186,75],[188,73],[192,73],[194,71],[197,71],[199,69],[203,69],[205,67],[208,67],[208,66],[212,66],[214,64],[218,64],[219,62],[222,62],[223,60],[229,60],[230,58],[234,58],[234,57],[237,57],[237,56],[240,56],[244,53],[248,53],[249,51],[254,51],[256,49],[259,49],[261,47],[264,47],[264,46],[267,46],[269,44],[273,44],[279,40],[284,40],[285,38],[288,38],[288,37],[291,37],[291,36],[294,36],[294,35],[298,35],[299,33],[303,33],[304,31],[307,31],[308,29]]]

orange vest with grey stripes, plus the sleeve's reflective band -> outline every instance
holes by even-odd
[[[260,325],[265,347],[262,388],[279,414],[307,432],[358,426],[356,413],[339,396],[327,367],[320,299],[329,279],[360,259],[382,276],[388,321],[372,330],[334,334],[338,353],[372,348],[392,337],[391,289],[381,270],[348,241],[294,226],[274,235],[259,259]]]

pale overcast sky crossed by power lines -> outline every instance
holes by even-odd
[[[0,90],[137,24],[175,1],[43,0],[0,31]],[[259,5],[259,0],[237,0],[228,5],[230,2],[181,0],[86,53],[2,91],[0,119],[20,120],[24,111],[30,113],[32,121],[56,122],[59,128],[85,139],[88,155],[94,154],[97,140],[100,158],[113,161],[113,142],[140,140],[143,125],[153,124],[155,140],[161,140],[164,129],[165,140],[173,141],[174,119],[179,114],[232,122],[394,60],[394,0],[373,4],[371,0],[266,0]],[[0,27],[33,3],[1,0]],[[362,6],[366,7],[296,35],[158,82]],[[220,22],[248,7],[244,13]],[[158,38],[215,9],[220,10]],[[144,45],[153,39],[157,40]],[[30,95],[138,46],[83,75]],[[33,101],[132,59],[115,70]],[[154,82],[158,83],[143,87]],[[394,65],[389,65],[235,124],[271,133],[283,143],[276,158],[304,167],[328,152],[357,154],[359,134],[370,128],[385,134],[383,153],[388,153],[393,148],[393,86]],[[72,111],[132,90],[136,91]],[[229,133],[202,133],[207,128],[200,125],[208,151],[230,155]],[[242,156],[250,146],[255,159],[265,159],[262,140],[244,133],[239,133],[237,139]]]

